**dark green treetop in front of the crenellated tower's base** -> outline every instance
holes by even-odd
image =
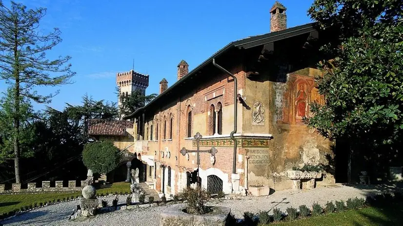
[[[121,101],[119,112],[121,115],[129,115],[137,109],[154,99],[157,94],[143,95],[141,90],[134,90],[131,94],[122,95],[119,88],[117,89],[118,98]]]

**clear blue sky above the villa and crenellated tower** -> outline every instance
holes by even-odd
[[[49,59],[72,57],[74,84],[59,89],[51,107],[80,104],[85,93],[117,101],[116,72],[150,75],[146,94],[158,93],[162,78],[168,86],[177,79],[184,59],[189,71],[231,41],[270,31],[269,9],[274,0],[15,0],[28,8],[46,7],[40,28],[60,28],[63,41]],[[3,0],[8,4],[8,0]],[[311,22],[307,9],[313,0],[281,0],[287,27]],[[0,90],[5,84],[0,83]],[[43,106],[34,105],[39,109]]]

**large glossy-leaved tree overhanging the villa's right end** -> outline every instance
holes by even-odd
[[[334,57],[320,62],[316,79],[326,102],[311,105],[309,126],[348,140],[350,156],[373,164],[396,159],[403,135],[403,1],[315,0],[308,13],[336,31],[322,46]]]

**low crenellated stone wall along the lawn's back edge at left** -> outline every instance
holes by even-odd
[[[63,181],[56,181],[55,187],[50,186],[50,181],[42,181],[42,187],[37,188],[36,183],[28,183],[28,188],[21,189],[21,184],[13,183],[11,189],[5,189],[4,184],[0,184],[0,194],[4,193],[33,193],[33,192],[45,192],[45,191],[81,191],[87,185],[93,183],[93,178],[89,177],[87,180],[81,181],[80,187],[76,187],[76,181],[68,181],[68,187],[63,187]]]

